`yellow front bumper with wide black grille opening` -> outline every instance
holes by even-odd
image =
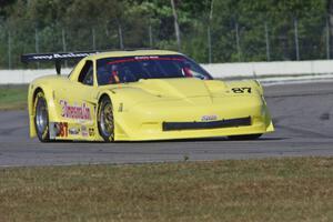
[[[215,121],[202,121],[204,115]],[[261,97],[203,98],[140,104],[117,113],[115,140],[170,140],[256,134],[274,131]]]

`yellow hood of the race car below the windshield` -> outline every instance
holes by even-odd
[[[251,87],[252,95],[256,94],[258,85],[254,81],[240,81],[225,83],[220,80],[200,80],[195,78],[180,79],[149,79],[139,82],[113,85],[112,99],[125,107],[134,107],[139,103],[182,101],[189,104],[200,102],[202,105],[214,103],[214,98],[243,97],[250,93],[233,93],[232,88],[236,85]]]

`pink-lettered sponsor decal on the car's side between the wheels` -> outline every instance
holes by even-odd
[[[91,120],[90,108],[87,103],[82,105],[70,105],[65,100],[60,100],[62,107],[61,117],[77,120]]]

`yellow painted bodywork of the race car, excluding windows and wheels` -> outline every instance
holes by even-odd
[[[67,132],[62,135],[51,135],[54,140],[102,141],[97,124],[97,110],[103,95],[112,101],[115,141],[212,138],[274,131],[263,99],[263,89],[252,80],[224,82],[174,78],[109,85],[98,85],[97,81],[93,85],[78,82],[87,60],[91,60],[95,68],[95,61],[102,58],[154,54],[178,53],[158,50],[98,53],[82,59],[69,77],[50,75],[34,80],[28,95],[30,135],[36,137],[33,103],[40,90],[48,103],[50,124],[65,125]],[[251,88],[251,93],[235,93],[232,88]],[[63,115],[64,110],[70,112],[73,109],[74,113],[81,114]],[[216,120],[250,117],[251,125],[163,131],[163,122],[202,122],[202,117],[216,117]]]

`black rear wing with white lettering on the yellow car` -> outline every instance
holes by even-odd
[[[61,62],[65,60],[81,60],[90,54],[99,53],[98,51],[84,51],[84,52],[59,52],[59,53],[31,53],[22,54],[21,62],[54,62],[57,74],[61,72]]]

